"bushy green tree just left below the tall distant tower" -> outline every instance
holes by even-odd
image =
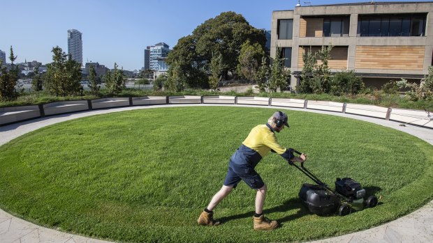
[[[53,47],[51,52],[52,63],[47,64],[45,88],[56,96],[82,93],[81,64],[74,61],[71,55],[65,54],[58,46]]]

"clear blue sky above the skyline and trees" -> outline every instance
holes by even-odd
[[[301,0],[302,6],[366,0]],[[382,0],[386,1],[386,0]],[[402,1],[402,0],[400,0]],[[425,0],[418,0],[425,1]],[[427,0],[428,1],[428,0]],[[207,19],[222,12],[242,14],[258,29],[271,28],[273,10],[293,10],[298,0],[0,0],[0,50],[9,63],[52,62],[52,47],[68,52],[68,29],[82,33],[82,57],[107,68],[140,70],[146,46],[170,49]]]

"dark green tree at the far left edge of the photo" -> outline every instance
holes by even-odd
[[[3,62],[0,61],[0,100],[10,101],[15,100],[18,96],[15,91],[15,86],[18,81],[18,66],[13,64],[13,62],[17,59],[17,56],[13,54],[13,48],[10,46],[10,56],[9,60],[11,64],[10,70],[6,68],[6,65],[3,65]]]

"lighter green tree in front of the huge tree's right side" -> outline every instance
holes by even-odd
[[[247,40],[242,44],[240,55],[237,57],[237,73],[250,81],[256,79],[256,73],[263,56],[265,56],[263,47],[257,42],[251,44]]]

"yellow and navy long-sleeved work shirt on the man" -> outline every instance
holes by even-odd
[[[242,142],[242,145],[230,160],[235,164],[251,164],[251,166],[255,167],[260,162],[260,159],[265,157],[271,150],[277,152],[288,162],[291,162],[290,159],[294,157],[290,150],[278,143],[274,130],[270,125],[258,125],[249,132],[247,139]]]

